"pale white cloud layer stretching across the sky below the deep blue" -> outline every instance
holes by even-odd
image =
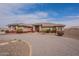
[[[47,12],[35,12],[31,14],[24,15],[14,15],[14,12],[22,13],[19,8],[23,7],[24,4],[0,4],[0,25],[4,26],[9,23],[36,23],[36,22],[52,22],[52,23],[61,23],[69,26],[79,26],[79,16],[65,16],[62,20],[56,18],[49,18]],[[30,4],[27,4],[27,9]],[[33,8],[33,7],[30,7]],[[58,13],[54,13],[59,15]],[[67,19],[67,20],[66,20]],[[65,20],[65,21],[64,21]]]

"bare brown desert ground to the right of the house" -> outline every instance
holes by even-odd
[[[64,37],[74,38],[79,40],[79,28],[67,28],[64,30]]]

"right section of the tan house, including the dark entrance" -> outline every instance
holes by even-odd
[[[33,24],[33,31],[34,32],[41,32],[45,30],[50,30],[51,32],[56,31],[63,31],[64,30],[63,24],[54,24],[54,23],[36,23]]]

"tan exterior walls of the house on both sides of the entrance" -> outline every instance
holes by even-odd
[[[55,27],[55,26],[54,27],[43,27],[41,25],[38,25],[39,32],[50,30],[53,33],[53,32],[56,32],[56,31],[63,31],[64,30],[63,28],[64,27],[62,27],[62,26],[60,26],[60,27]],[[17,29],[22,29],[23,32],[35,32],[36,31],[35,26],[33,26],[33,27],[10,26],[9,27],[9,31],[12,31],[12,32],[16,32]]]

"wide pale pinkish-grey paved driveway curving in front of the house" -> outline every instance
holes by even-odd
[[[79,56],[79,40],[52,34],[7,34],[0,39],[22,39],[32,45],[33,56]]]

